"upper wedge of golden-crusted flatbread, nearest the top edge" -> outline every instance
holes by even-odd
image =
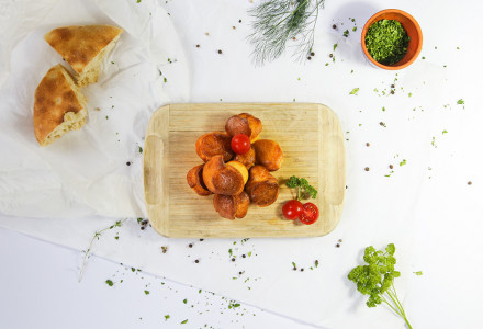
[[[114,48],[123,30],[110,25],[54,29],[45,41],[72,67],[79,87],[98,81],[102,59]]]

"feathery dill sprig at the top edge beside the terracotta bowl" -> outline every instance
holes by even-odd
[[[248,13],[254,18],[254,33],[248,36],[255,46],[252,57],[257,65],[272,61],[293,41],[293,56],[306,59],[314,45],[318,10],[324,0],[262,0]]]

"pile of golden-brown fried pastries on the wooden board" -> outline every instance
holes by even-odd
[[[259,118],[240,113],[226,121],[226,132],[204,134],[196,140],[195,150],[204,163],[188,172],[188,184],[198,195],[214,194],[214,208],[224,218],[243,218],[250,203],[266,207],[279,196],[279,183],[270,172],[280,169],[283,152],[277,141],[259,139],[261,129]],[[251,143],[244,155],[232,150],[232,138],[238,134]]]

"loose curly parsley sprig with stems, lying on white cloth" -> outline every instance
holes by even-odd
[[[366,303],[368,307],[375,307],[381,303],[385,303],[406,321],[409,329],[413,329],[394,288],[394,279],[401,275],[398,271],[394,270],[396,263],[395,250],[393,243],[387,245],[385,252],[375,250],[372,246],[366,248],[363,259],[368,264],[353,268],[347,277],[357,284],[357,290],[362,295],[369,295]]]

